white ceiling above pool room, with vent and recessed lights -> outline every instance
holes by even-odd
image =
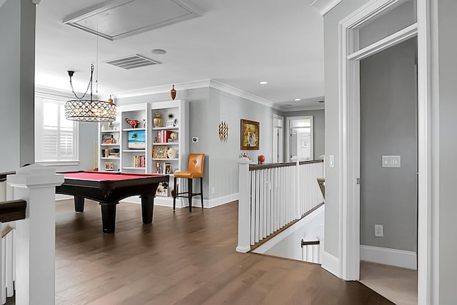
[[[41,1],[36,7],[36,85],[68,91],[66,71],[74,70],[75,90],[84,91],[94,63],[101,98],[171,84],[179,92],[186,83],[211,79],[281,110],[323,108],[318,103],[323,100],[323,19],[310,1],[186,2],[201,16],[110,41],[62,23],[104,1]],[[120,27],[133,21],[116,16],[114,22]],[[157,48],[166,54],[151,53]],[[126,70],[106,63],[134,54],[160,64]]]

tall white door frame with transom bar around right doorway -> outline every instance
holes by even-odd
[[[413,36],[418,37],[418,304],[431,303],[431,41],[428,0],[417,0],[418,22],[356,50],[358,26],[398,4],[373,0],[339,23],[339,267],[340,276],[358,280],[360,266],[360,88],[359,61]]]

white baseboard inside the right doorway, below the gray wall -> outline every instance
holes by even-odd
[[[360,259],[407,269],[417,269],[416,252],[373,246],[360,246]]]

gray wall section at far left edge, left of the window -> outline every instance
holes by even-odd
[[[0,7],[0,172],[34,162],[35,5]]]

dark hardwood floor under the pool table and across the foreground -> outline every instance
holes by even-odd
[[[56,202],[56,304],[393,304],[316,264],[235,252],[237,202],[173,212],[120,204],[115,234],[100,207]]]

